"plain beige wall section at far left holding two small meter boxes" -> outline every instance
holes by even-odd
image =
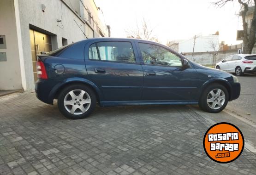
[[[0,62],[0,90],[22,89],[13,0],[0,0],[0,35],[6,35],[7,61]]]

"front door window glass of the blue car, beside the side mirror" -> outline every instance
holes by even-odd
[[[158,45],[139,43],[144,64],[181,67],[179,56]]]

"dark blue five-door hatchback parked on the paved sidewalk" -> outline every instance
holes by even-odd
[[[222,111],[240,95],[237,77],[147,40],[97,38],[37,56],[36,96],[69,119],[101,107],[198,104]]]

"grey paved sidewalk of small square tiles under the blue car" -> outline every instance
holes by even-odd
[[[197,106],[97,107],[69,120],[24,92],[0,97],[0,175],[256,174],[255,127]],[[203,150],[203,135],[217,122],[237,125],[245,148],[219,164]]]

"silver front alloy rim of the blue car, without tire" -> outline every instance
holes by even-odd
[[[207,96],[208,107],[214,110],[220,109],[220,107],[224,105],[225,100],[226,100],[225,93],[221,89],[211,90]]]

